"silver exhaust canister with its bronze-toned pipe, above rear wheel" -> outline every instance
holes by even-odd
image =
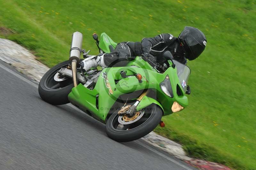
[[[80,32],[74,32],[72,35],[72,42],[71,42],[71,49],[70,49],[70,56],[69,61],[71,62],[72,66],[72,77],[74,87],[77,86],[77,63],[80,62],[80,56],[82,52],[82,41],[83,35]]]

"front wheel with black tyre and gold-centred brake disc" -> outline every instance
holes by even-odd
[[[139,139],[156,128],[161,121],[162,115],[162,109],[156,104],[151,104],[130,117],[113,113],[107,120],[107,135],[117,142],[129,142]]]

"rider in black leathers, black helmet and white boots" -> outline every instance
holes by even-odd
[[[122,42],[110,53],[101,53],[81,61],[82,68],[87,71],[92,67],[125,66],[129,60],[142,56],[146,61],[160,65],[165,62],[163,53],[170,51],[175,60],[187,64],[188,60],[196,59],[206,47],[206,37],[195,27],[185,27],[178,38],[172,34],[160,34],[153,38],[143,38],[141,42]],[[149,62],[151,66],[154,65]]]

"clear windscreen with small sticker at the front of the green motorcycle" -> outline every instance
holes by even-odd
[[[188,78],[190,75],[190,68],[184,64],[181,64],[180,62],[173,60],[176,68],[177,68],[177,75],[180,80],[181,87],[186,92],[187,85],[188,85]]]

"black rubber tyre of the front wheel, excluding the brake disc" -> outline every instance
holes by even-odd
[[[110,137],[111,139],[117,142],[129,142],[129,141],[139,139],[145,135],[148,135],[160,123],[163,115],[163,111],[156,104],[151,104],[150,106],[146,107],[145,112],[147,108],[152,108],[151,113],[149,113],[150,116],[148,117],[148,119],[142,124],[140,124],[138,127],[135,127],[135,128],[133,127],[132,129],[129,129],[129,130],[125,130],[125,129],[117,130],[117,128],[115,128],[116,127],[115,122],[117,121],[116,119],[118,119],[118,114],[117,113],[111,114],[106,124],[106,131],[107,131],[108,137]],[[131,124],[131,126],[133,124]]]

